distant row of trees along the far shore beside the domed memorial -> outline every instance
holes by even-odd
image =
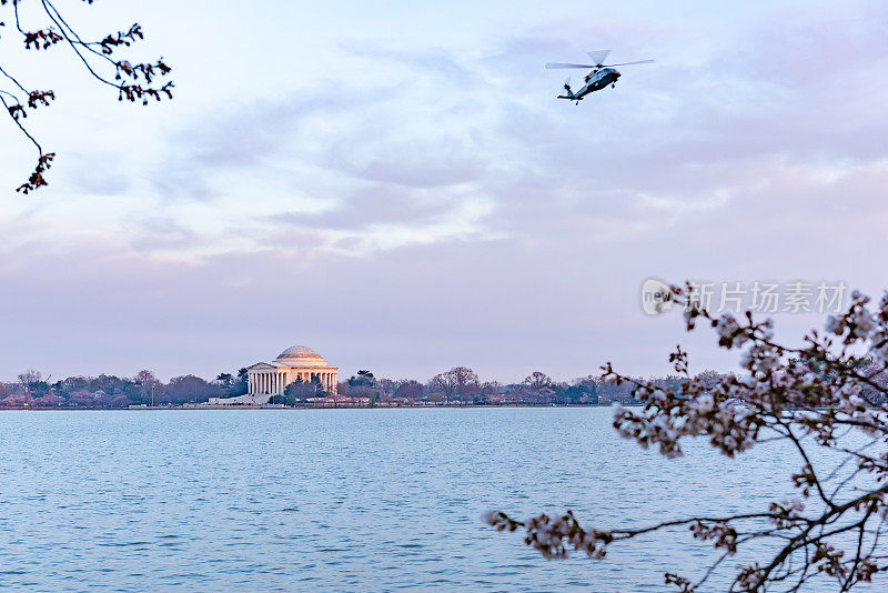
[[[705,371],[698,375],[717,381],[722,375]],[[683,379],[669,375],[654,379],[664,388]],[[615,385],[597,375],[569,382],[555,381],[534,371],[518,383],[480,381],[466,366],[455,366],[425,382],[414,379],[376,378],[361,370],[329,392],[319,382],[296,381],[282,395],[272,398],[275,406],[402,406],[402,405],[601,405],[636,403],[628,385]],[[0,408],[4,409],[125,409],[138,406],[208,405],[211,398],[246,393],[246,369],[220,373],[206,381],[193,374],[160,381],[151,371],[132,378],[100,374],[69,376],[51,381],[41,372],[28,370],[16,381],[0,383]]]

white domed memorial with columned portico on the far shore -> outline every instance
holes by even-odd
[[[210,404],[265,404],[273,395],[283,395],[290,383],[319,382],[327,393],[336,393],[339,366],[331,366],[309,346],[294,345],[273,362],[258,362],[246,368],[248,392],[236,398],[211,398]]]

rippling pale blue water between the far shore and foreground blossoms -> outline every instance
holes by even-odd
[[[668,591],[685,532],[546,562],[482,524],[761,510],[797,460],[665,461],[607,409],[0,413],[0,589]],[[736,564],[736,562],[734,562]],[[731,565],[734,565],[731,564]],[[724,586],[713,585],[713,591]],[[830,589],[820,589],[829,591]]]

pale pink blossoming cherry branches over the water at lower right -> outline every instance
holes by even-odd
[[[493,511],[487,521],[501,531],[524,530],[525,543],[546,557],[564,557],[574,549],[602,559],[612,545],[685,526],[693,537],[712,542],[717,556],[695,580],[665,575],[683,592],[699,591],[717,566],[749,542],[767,542],[773,554],[740,566],[730,591],[799,591],[816,579],[833,579],[837,591],[848,591],[888,571],[880,541],[888,520],[888,388],[877,381],[888,370],[888,295],[872,310],[867,296],[854,293],[824,333],[811,331],[803,346],[790,348],[774,340],[770,320],[755,322],[748,312],[740,321],[729,314],[715,318],[688,300],[689,287],[673,291],[686,304],[688,331],[705,320],[715,328],[719,346],[745,350],[745,374],[692,376],[680,346],[669,360],[682,380],[668,385],[632,379],[608,363],[603,378],[630,384],[644,403],[618,409],[614,426],[667,458],[680,455],[683,439],[690,436],[706,438],[729,458],[764,441],[783,444],[798,455],[798,471],[787,475],[797,497],[749,513],[683,516],[619,530],[583,526],[571,511],[526,521]],[[862,446],[848,444],[855,434],[866,440]],[[818,455],[826,452],[831,454]]]

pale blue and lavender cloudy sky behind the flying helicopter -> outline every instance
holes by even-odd
[[[728,370],[642,312],[646,278],[888,287],[881,3],[58,4],[90,37],[142,23],[131,56],[176,94],[122,104],[0,39],[58,97],[28,119],[49,188],[12,191],[34,154],[1,132],[0,379],[212,378],[292,344],[421,380],[664,373],[679,341]],[[543,63],[602,48],[656,63],[555,99]]]

